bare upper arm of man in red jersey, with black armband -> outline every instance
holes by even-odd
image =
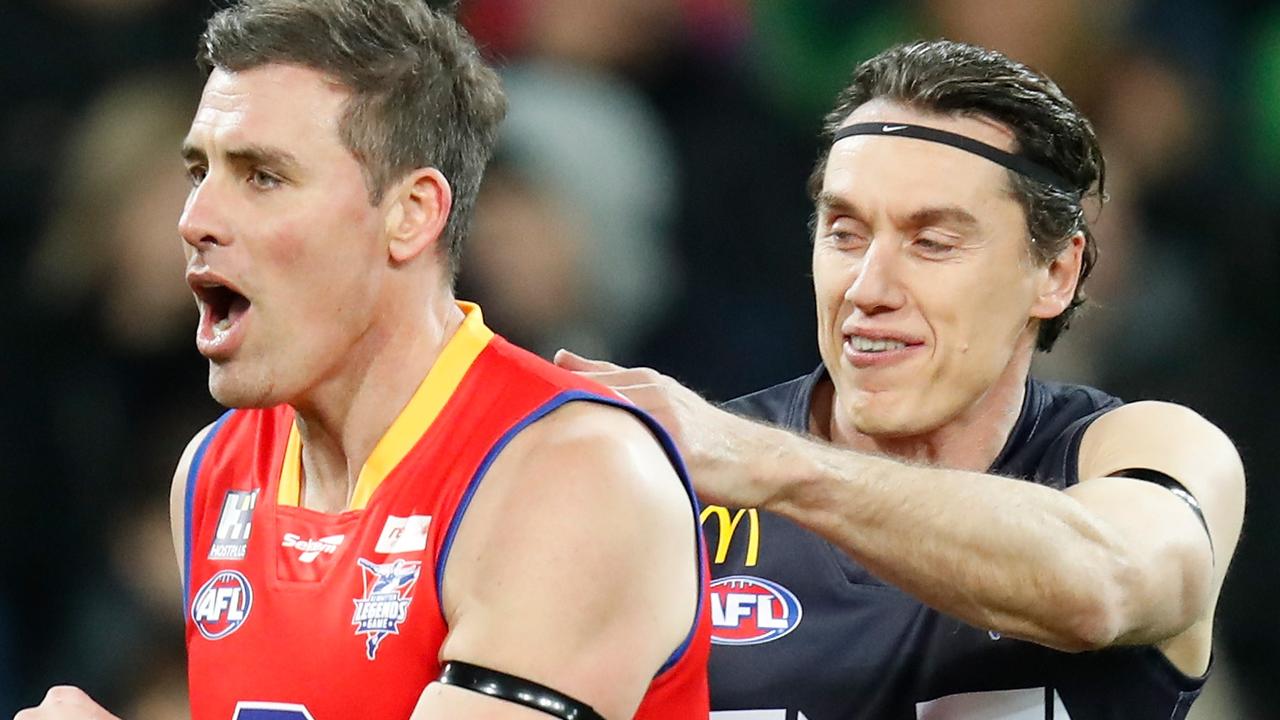
[[[499,455],[448,559],[442,661],[508,673],[631,717],[694,624],[690,502],[623,411],[570,404]],[[413,720],[549,716],[433,683]]]

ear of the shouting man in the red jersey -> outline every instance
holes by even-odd
[[[440,242],[453,209],[453,188],[440,170],[420,168],[393,186],[388,197],[387,251],[407,263]]]

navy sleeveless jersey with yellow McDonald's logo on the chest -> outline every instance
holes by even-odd
[[[726,409],[808,432],[826,370]],[[1029,379],[991,473],[1062,489],[1085,428],[1120,401]],[[1181,720],[1203,678],[1155,647],[1066,653],[932,610],[795,523],[703,509],[713,720]]]

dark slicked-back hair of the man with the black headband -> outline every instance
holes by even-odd
[[[859,106],[877,99],[901,102],[925,113],[978,115],[1012,131],[1016,151],[1066,179],[1069,188],[1009,172],[1010,183],[1027,214],[1032,255],[1039,263],[1056,258],[1075,233],[1084,234],[1084,261],[1075,296],[1061,315],[1043,320],[1038,350],[1051,350],[1076,307],[1084,304],[1084,281],[1097,259],[1093,232],[1084,217],[1084,200],[1105,199],[1106,163],[1088,118],[1041,73],[1001,53],[952,42],[919,41],[897,45],[861,63],[850,85],[836,99],[823,127],[826,147]],[[822,188],[829,150],[823,151],[809,177],[809,191]]]

